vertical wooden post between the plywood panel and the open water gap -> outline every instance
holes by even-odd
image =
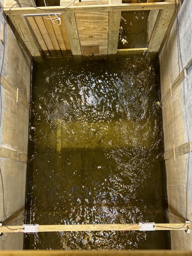
[[[109,12],[108,54],[116,54],[117,53],[120,18],[121,18],[121,11],[110,11]]]

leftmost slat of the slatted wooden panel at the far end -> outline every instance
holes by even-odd
[[[43,50],[43,52],[46,55],[49,55],[50,52],[49,52],[49,50],[47,48],[47,45],[45,44],[44,38],[41,35],[41,32],[40,32],[40,30],[39,30],[39,28],[37,26],[37,23],[36,23],[34,17],[27,17],[27,20],[28,20],[31,28],[33,29],[33,32],[34,32],[34,34],[35,34],[35,36],[36,36],[36,38],[37,38],[37,40],[38,40],[38,42],[39,42],[39,44],[41,46],[41,49]]]

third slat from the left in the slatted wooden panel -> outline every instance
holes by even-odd
[[[51,18],[53,18],[53,17],[54,16],[51,16]],[[47,28],[47,32],[49,34],[49,37],[52,41],[52,45],[55,49],[56,55],[57,55],[57,57],[61,57],[62,54],[61,54],[61,51],[60,51],[59,43],[57,41],[57,37],[56,37],[54,29],[53,29],[52,21],[49,19],[49,16],[43,16],[43,20],[44,20],[45,27]],[[55,25],[55,26],[57,26],[57,25]]]

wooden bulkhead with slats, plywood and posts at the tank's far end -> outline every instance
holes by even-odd
[[[14,6],[11,10],[12,0],[6,1],[9,8],[5,4],[3,10],[8,13],[33,57],[41,56],[42,53],[46,57],[64,57],[71,52],[73,56],[79,57],[114,55],[117,53],[121,12],[146,10],[151,10],[148,50],[157,52],[175,10],[174,0],[154,3],[152,0],[148,3],[136,3],[135,0],[127,0],[128,3],[122,3],[122,0],[76,0],[75,3],[73,0],[60,0],[61,6],[36,9],[34,2],[33,7]],[[25,0],[24,3],[31,4],[31,1]],[[59,26],[47,19],[48,14],[56,17],[54,13],[61,19]]]

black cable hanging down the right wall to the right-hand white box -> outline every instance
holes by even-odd
[[[183,70],[183,61],[181,56],[181,46],[180,46],[180,32],[179,32],[179,21],[178,21],[178,11],[177,11],[177,1],[175,0],[175,15],[176,15],[176,34],[177,34],[177,49],[178,49],[178,65],[179,65],[179,76],[180,76],[180,63],[181,62],[181,68]],[[180,56],[180,58],[179,58]],[[186,128],[187,128],[187,134],[188,134],[188,142],[189,140],[189,132],[188,132],[188,122],[187,122],[187,110],[186,110],[186,100],[185,100],[185,79],[183,78],[183,97],[184,97],[184,106],[185,106],[185,118],[186,118]],[[188,162],[187,162],[187,180],[186,180],[186,211],[185,211],[185,223],[182,227],[183,228],[187,221],[187,213],[188,213],[188,176],[189,176],[189,156],[190,152],[188,153]],[[161,226],[156,226],[159,228],[166,228]],[[180,229],[180,228],[172,228],[172,229]],[[188,229],[188,228],[186,228]]]

